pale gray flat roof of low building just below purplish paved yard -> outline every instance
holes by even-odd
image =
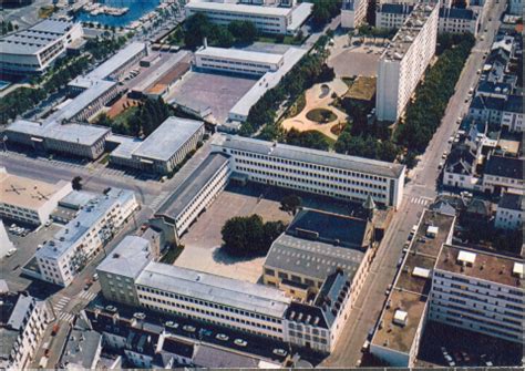
[[[167,117],[141,143],[133,156],[168,161],[203,126],[202,121]]]

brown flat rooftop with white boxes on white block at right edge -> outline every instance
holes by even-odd
[[[463,267],[462,261],[459,260],[459,255],[462,251],[471,254],[471,256],[474,257],[474,261]],[[513,274],[515,265],[519,264],[522,265],[523,276],[522,259],[484,253],[465,247],[443,245],[435,265],[435,269],[464,276],[466,278],[472,277],[475,279],[482,279],[523,290],[523,278],[519,279],[518,275]]]

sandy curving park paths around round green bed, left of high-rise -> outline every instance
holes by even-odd
[[[297,114],[282,121],[286,131],[317,131],[332,141],[338,138],[338,127],[347,122],[347,114],[332,103],[344,95],[348,85],[340,79],[316,84],[305,92],[295,107]]]

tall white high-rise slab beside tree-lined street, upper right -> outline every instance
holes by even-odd
[[[419,3],[381,55],[378,66],[378,120],[397,121],[435,53],[439,7]]]

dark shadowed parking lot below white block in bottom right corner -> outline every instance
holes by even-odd
[[[522,364],[519,344],[429,321],[421,337],[418,365],[509,367]],[[469,341],[465,341],[469,339]],[[449,361],[445,357],[449,355]]]

